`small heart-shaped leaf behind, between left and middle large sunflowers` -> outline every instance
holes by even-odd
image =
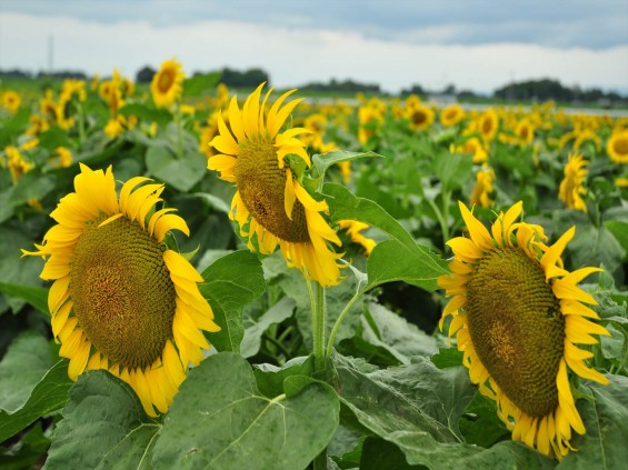
[[[187,151],[177,159],[168,147],[149,147],[146,166],[150,174],[182,192],[192,189],[207,171],[207,160],[199,152]]]

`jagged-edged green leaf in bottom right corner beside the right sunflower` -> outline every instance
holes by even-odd
[[[595,400],[578,400],[587,432],[576,434],[570,452],[558,469],[621,469],[628,462],[628,378],[607,376],[610,383],[587,382],[582,389]]]

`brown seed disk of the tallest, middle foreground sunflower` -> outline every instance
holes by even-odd
[[[240,197],[261,227],[281,240],[310,241],[306,211],[299,200],[295,201],[292,220],[286,216],[286,169],[279,168],[269,139],[249,140],[240,149],[235,173]]]

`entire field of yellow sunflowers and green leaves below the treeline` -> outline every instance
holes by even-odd
[[[0,88],[0,468],[617,469],[628,118]]]

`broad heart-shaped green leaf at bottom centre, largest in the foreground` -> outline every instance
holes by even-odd
[[[249,363],[233,353],[210,356],[175,397],[154,446],[159,469],[302,469],[329,443],[339,403],[323,383],[298,396],[269,399]]]

